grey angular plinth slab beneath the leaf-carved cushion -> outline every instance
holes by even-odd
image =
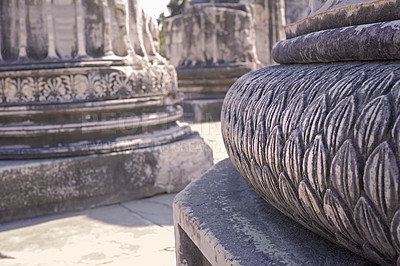
[[[371,265],[261,199],[229,159],[173,205],[177,265]]]

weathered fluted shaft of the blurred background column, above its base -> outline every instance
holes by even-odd
[[[166,21],[167,55],[178,66],[272,64],[272,45],[283,39],[282,1],[192,3]]]

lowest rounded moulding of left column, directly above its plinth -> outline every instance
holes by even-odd
[[[179,114],[179,117],[181,116],[182,113]],[[166,118],[175,120],[177,117],[169,116]],[[81,128],[81,130],[84,129]],[[123,131],[125,134],[121,135],[119,131]],[[8,133],[11,134],[12,132]],[[119,123],[114,127],[104,128],[95,133],[81,131],[80,134],[85,138],[80,139],[73,136],[72,133],[64,133],[61,136],[42,134],[34,138],[27,136],[26,138],[28,139],[25,142],[22,142],[22,140],[15,141],[10,137],[4,140],[0,139],[2,144],[0,146],[0,160],[74,157],[131,151],[172,143],[184,139],[191,133],[189,127],[176,126],[174,123],[159,127],[143,123],[140,127],[133,128],[128,128],[124,123]],[[70,135],[71,137],[69,138]],[[88,136],[93,138],[88,138]],[[41,143],[39,142],[40,139],[42,139],[42,142],[46,142]],[[12,141],[15,142],[13,143]]]

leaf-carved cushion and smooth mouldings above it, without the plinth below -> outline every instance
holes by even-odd
[[[399,264],[400,1],[310,7],[273,49],[282,65],[227,93],[228,154],[282,213],[371,261]]]

